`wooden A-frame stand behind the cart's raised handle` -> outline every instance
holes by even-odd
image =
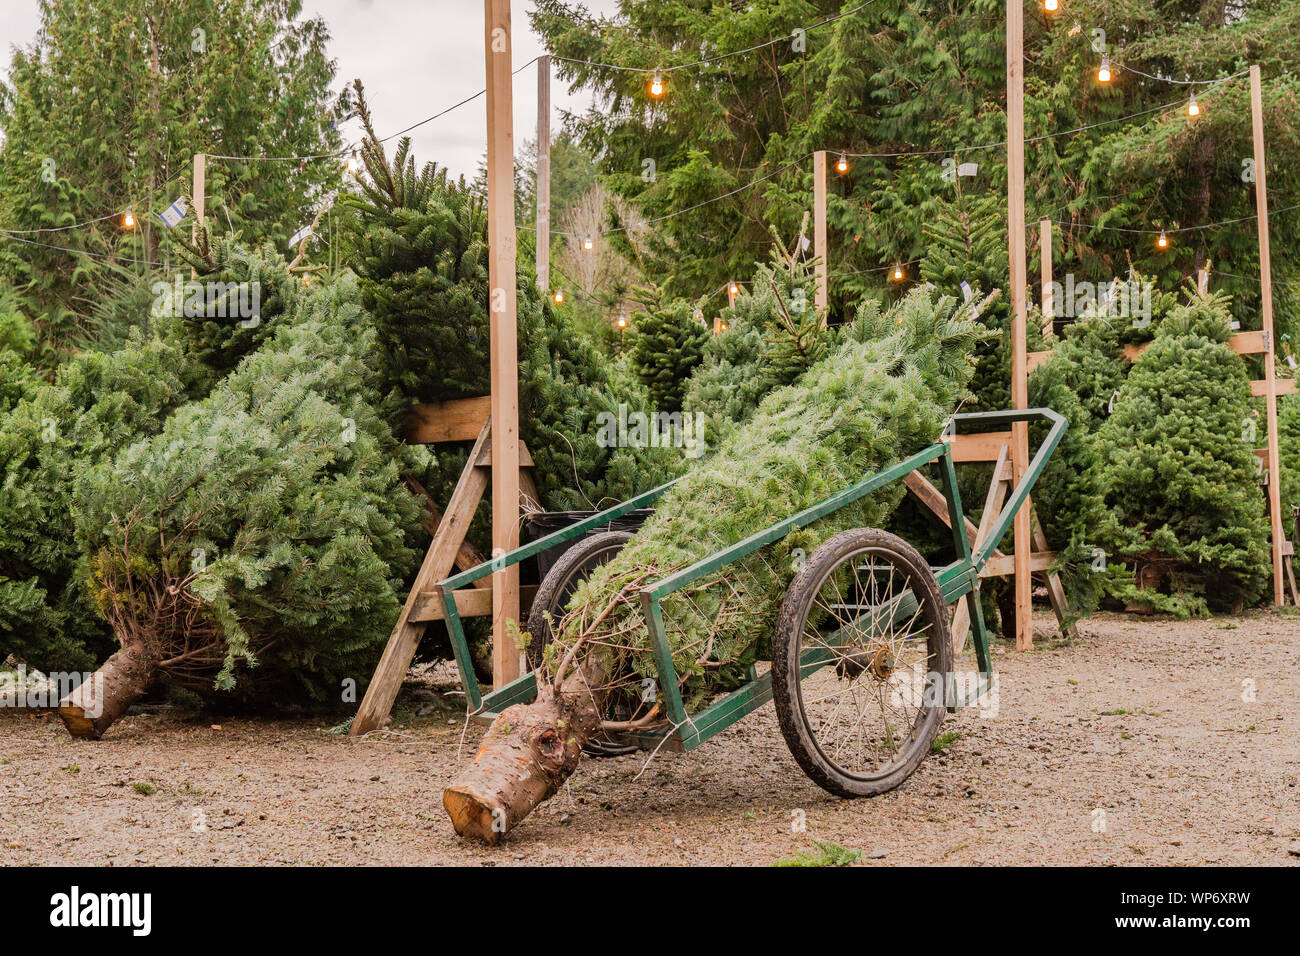
[[[979,527],[975,527],[975,524],[968,519],[966,522],[966,537],[970,538],[971,548],[974,549],[983,544],[988,537],[989,531],[992,531],[993,522],[997,520],[997,515],[1001,512],[1002,505],[1006,502],[1006,498],[1011,493],[1011,488],[1015,484],[1014,471],[1011,468],[1011,433],[994,432],[989,434],[954,434],[945,436],[944,440],[952,444],[953,462],[993,462],[993,480],[989,483],[988,494],[984,498],[984,512],[980,516]],[[919,471],[913,471],[905,475],[904,484],[907,485],[907,489],[916,496],[922,505],[933,511],[944,524],[952,527],[948,516],[948,499],[944,497],[944,493],[939,490],[939,488],[927,480]],[[1052,602],[1052,610],[1056,613],[1057,623],[1061,626],[1061,632],[1063,635],[1072,635],[1074,624],[1070,623],[1069,619],[1070,606],[1066,602],[1065,585],[1061,584],[1061,576],[1052,570],[1052,564],[1057,555],[1054,551],[1048,550],[1046,536],[1043,533],[1043,525],[1039,524],[1037,515],[1034,514],[1030,501],[1024,502],[1024,507],[1030,511],[1030,520],[1034,528],[1034,550],[1030,553],[1028,562],[1030,571],[1032,574],[1041,574],[1045,576],[1048,600]],[[988,563],[984,564],[984,568],[980,571],[980,579],[1008,578],[1014,574],[1014,557],[997,550],[993,551]],[[953,607],[952,619],[954,654],[962,653],[968,635],[970,607],[966,601],[957,601]],[[1028,650],[1028,648],[1018,649]]]

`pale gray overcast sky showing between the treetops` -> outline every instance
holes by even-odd
[[[584,0],[594,13],[612,13],[618,0]],[[39,22],[36,0],[4,0],[0,48],[26,46]],[[543,53],[528,26],[532,0],[512,0],[512,56],[516,69]],[[395,133],[484,87],[484,7],[481,0],[303,0],[303,14],[329,23],[330,52],[338,61],[335,88],[360,77],[380,135]],[[537,72],[515,77],[515,148],[537,129]],[[551,129],[560,109],[585,109],[586,96],[571,98],[551,81]],[[416,161],[436,160],[472,177],[486,150],[486,98],[468,103],[411,133]],[[354,138],[358,124],[344,127]]]

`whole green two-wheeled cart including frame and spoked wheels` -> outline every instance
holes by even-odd
[[[645,588],[640,600],[658,669],[659,719],[634,730],[606,732],[602,745],[692,750],[772,700],[790,752],[823,788],[841,796],[872,796],[902,783],[930,752],[944,714],[975,702],[991,685],[993,667],[976,591],[979,574],[1011,527],[1015,512],[1024,505],[1066,429],[1066,420],[1049,408],[970,412],[952,419],[954,433],[967,428],[1005,428],[1020,421],[1046,423],[1049,428],[991,533],[974,551],[966,536],[952,449],[948,442],[937,441]],[[772,636],[771,667],[762,674],[757,666],[751,667],[750,679],[742,687],[688,713],[664,627],[664,598],[931,463],[939,467],[957,559],[945,567],[931,567],[906,541],[875,528],[835,535],[801,562],[786,591]],[[536,672],[529,671],[485,695],[474,678],[455,592],[556,544],[588,536],[634,509],[646,507],[672,484],[437,585],[460,680],[474,717],[490,721],[514,704],[532,701],[537,692]],[[566,554],[567,561],[551,568],[537,600],[549,609],[562,609],[572,585],[615,554],[627,537],[618,532],[586,537]],[[953,671],[956,652],[949,635],[948,605],[959,600],[967,601],[978,667],[970,680],[959,680]]]

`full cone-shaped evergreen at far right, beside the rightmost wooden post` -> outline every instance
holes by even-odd
[[[1097,436],[1112,520],[1104,546],[1130,564],[1128,604],[1175,614],[1257,601],[1268,522],[1252,454],[1249,376],[1227,347],[1222,295],[1174,310]]]

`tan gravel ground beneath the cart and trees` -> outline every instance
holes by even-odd
[[[364,740],[159,709],[81,743],[57,717],[0,713],[0,860],[762,865],[828,840],[863,865],[1300,865],[1300,618],[1082,631],[998,649],[997,714],[950,715],[946,748],[887,796],[810,783],[768,704],[645,769],[585,762],[493,849],[463,843],[441,804],[481,731],[428,688],[434,702],[408,691],[395,732]]]

